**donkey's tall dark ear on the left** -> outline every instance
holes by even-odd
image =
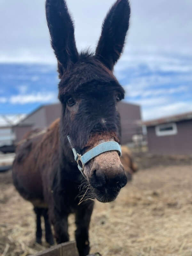
[[[62,76],[62,72],[78,60],[74,25],[64,0],[46,0],[45,8],[51,44]]]

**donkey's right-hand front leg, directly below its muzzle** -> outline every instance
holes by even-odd
[[[80,204],[75,212],[76,223],[76,243],[79,251],[79,256],[86,256],[89,254],[89,223],[93,210],[94,202],[91,201],[86,204]]]

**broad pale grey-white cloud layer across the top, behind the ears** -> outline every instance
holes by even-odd
[[[94,49],[102,20],[115,0],[67,2],[75,20],[77,48],[80,50],[91,45]],[[124,57],[138,51],[152,55],[154,52],[191,53],[191,0],[178,1],[177,4],[175,0],[130,2],[131,22]],[[0,3],[0,22],[4,24],[0,61],[56,63],[49,42],[44,0],[12,0],[11,6],[10,1]],[[166,67],[170,68],[177,69]]]

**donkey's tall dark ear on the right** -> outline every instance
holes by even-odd
[[[125,36],[129,28],[129,17],[129,1],[117,0],[103,21],[95,54],[110,70],[113,70],[123,51]]]

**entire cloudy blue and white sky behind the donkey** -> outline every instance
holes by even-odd
[[[68,0],[77,49],[94,52],[113,0]],[[192,111],[192,1],[130,0],[131,19],[115,75],[143,120]],[[57,102],[56,58],[44,0],[0,0],[0,114]]]

